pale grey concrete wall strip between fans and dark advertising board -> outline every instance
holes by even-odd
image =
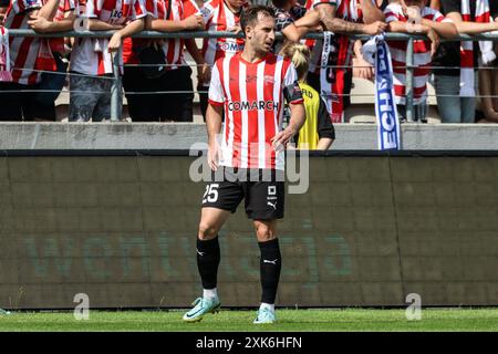
[[[375,124],[336,124],[334,150],[376,150]],[[498,150],[498,124],[403,124],[406,150]],[[4,123],[0,150],[189,149],[207,143],[196,123]]]

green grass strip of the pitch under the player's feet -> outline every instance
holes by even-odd
[[[184,311],[90,311],[87,321],[72,312],[0,314],[0,331],[498,331],[498,308],[423,309],[408,321],[405,310],[278,310],[278,323],[255,325],[256,311],[221,310],[199,323],[184,323]]]

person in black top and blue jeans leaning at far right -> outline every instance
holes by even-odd
[[[498,30],[498,22],[463,21],[461,0],[440,0],[439,3],[440,12],[455,22],[459,33],[478,34]],[[474,20],[476,1],[469,1],[469,3],[470,15]],[[460,42],[442,43],[433,60],[437,107],[443,123],[474,123],[475,121],[476,98],[460,96]],[[479,44],[475,42],[475,67],[478,64],[479,55]]]

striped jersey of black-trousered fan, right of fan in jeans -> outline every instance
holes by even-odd
[[[194,0],[173,0],[172,12],[166,19],[168,11],[168,1],[166,0],[146,0],[147,12],[155,19],[181,21],[193,14],[199,13],[199,8]],[[169,70],[178,69],[177,65],[186,64],[184,59],[184,39],[166,40],[163,50],[166,54],[166,63],[172,65]]]

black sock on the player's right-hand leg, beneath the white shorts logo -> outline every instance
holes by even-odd
[[[279,239],[271,241],[258,242],[261,251],[260,272],[261,272],[261,302],[274,303],[277,296],[277,288],[279,285],[281,254]]]

